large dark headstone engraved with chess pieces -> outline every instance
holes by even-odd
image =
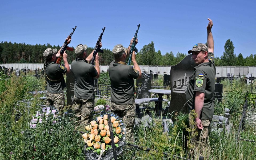
[[[171,100],[169,113],[183,112],[187,113],[186,90],[189,83],[189,77],[194,73],[194,67],[197,66],[192,60],[192,54],[187,55],[177,65],[171,66],[170,71],[170,90]]]

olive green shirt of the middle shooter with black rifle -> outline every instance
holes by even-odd
[[[75,77],[74,95],[82,99],[94,98],[94,77],[98,72],[94,65],[89,64],[84,58],[76,58],[71,63],[71,72]]]

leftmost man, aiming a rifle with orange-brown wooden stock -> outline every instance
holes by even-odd
[[[47,48],[43,57],[45,57],[44,70],[47,80],[47,92],[46,92],[46,105],[54,106],[59,112],[63,111],[65,106],[65,95],[63,89],[66,87],[66,83],[63,77],[63,73],[69,73],[69,63],[67,62],[66,51],[63,54],[64,65],[56,64],[57,49]]]

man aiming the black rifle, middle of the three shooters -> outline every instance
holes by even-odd
[[[102,43],[100,43],[102,47]],[[77,126],[88,125],[93,118],[94,110],[94,78],[99,78],[99,56],[95,57],[95,66],[89,62],[93,58],[93,52],[88,55],[87,46],[79,44],[75,48],[77,58],[71,63],[71,72],[75,77],[74,103],[72,106],[77,117]]]

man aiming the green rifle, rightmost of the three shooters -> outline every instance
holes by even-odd
[[[136,44],[138,39],[136,39]],[[126,126],[126,140],[134,141],[132,129],[136,117],[134,103],[134,79],[141,78],[141,69],[136,62],[136,55],[133,52],[132,61],[134,66],[126,65],[126,58],[129,57],[133,39],[126,49],[122,45],[114,46],[112,52],[115,60],[109,65],[109,77],[111,81],[111,111],[122,117]]]

